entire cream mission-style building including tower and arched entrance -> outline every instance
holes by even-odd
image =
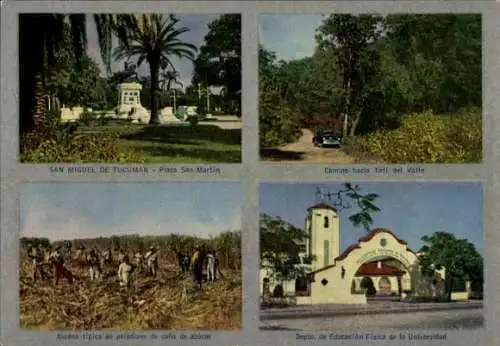
[[[310,238],[299,244],[302,258],[315,256],[312,262],[301,264],[307,276],[273,282],[272,275],[261,269],[261,295],[271,294],[280,285],[298,304],[366,304],[367,296],[411,295],[419,285],[419,254],[390,230],[374,229],[341,252],[340,219],[326,203],[307,210],[305,227]],[[437,282],[444,279],[445,269],[436,271]],[[466,292],[454,295],[455,299],[467,296]]]

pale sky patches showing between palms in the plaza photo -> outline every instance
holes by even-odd
[[[179,18],[180,21],[177,24],[177,27],[187,27],[190,29],[189,31],[179,35],[179,39],[194,44],[199,49],[204,43],[205,35],[208,33],[208,24],[219,17],[220,14],[178,14],[177,18]],[[87,26],[87,53],[99,64],[104,75],[105,70],[97,40],[95,21],[92,15],[87,15],[87,19],[89,23]],[[180,73],[178,80],[182,82],[184,88],[190,85],[191,77],[193,75],[193,63],[187,59],[180,60],[176,57],[172,57],[172,62],[176,70]],[[111,69],[113,72],[117,72],[123,70],[123,66],[124,61],[114,62],[111,65]],[[144,62],[141,67],[139,67],[137,72],[140,75],[149,75],[148,64]]]

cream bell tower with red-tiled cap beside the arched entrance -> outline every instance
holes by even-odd
[[[340,255],[340,220],[337,210],[321,202],[307,210],[306,230],[310,235],[307,252],[316,259],[311,269],[317,270],[331,265]]]

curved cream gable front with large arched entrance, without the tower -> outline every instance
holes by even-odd
[[[368,264],[370,268],[366,268]],[[377,270],[371,274],[360,273],[363,267]],[[392,268],[391,272],[387,271],[388,267]],[[364,277],[370,278],[372,284]],[[366,304],[365,289],[360,286],[370,291],[366,293],[371,294],[374,287],[375,291],[389,291],[390,296],[394,296],[400,291],[411,291],[419,277],[417,254],[392,232],[375,229],[337,256],[333,265],[310,273],[311,302]],[[323,284],[325,282],[327,284]]]

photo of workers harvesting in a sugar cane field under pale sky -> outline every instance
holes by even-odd
[[[241,188],[27,183],[20,328],[240,330]]]

